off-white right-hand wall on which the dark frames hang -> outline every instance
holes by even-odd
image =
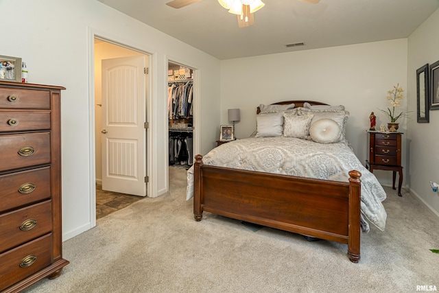
[[[408,38],[409,94],[416,97],[416,69],[439,60],[439,10]],[[408,109],[416,113],[416,99],[410,99]],[[429,124],[408,124],[407,145],[409,164],[405,168],[410,188],[423,202],[439,215],[439,194],[431,191],[429,181],[439,183],[439,110],[429,112]]]

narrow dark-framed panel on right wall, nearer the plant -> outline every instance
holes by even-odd
[[[418,99],[418,123],[429,123],[430,79],[428,64],[416,70],[416,96]]]

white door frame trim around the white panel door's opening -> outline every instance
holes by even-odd
[[[126,40],[119,41],[115,36],[108,36],[108,34],[104,32],[97,32],[92,28],[88,28],[88,125],[89,125],[89,145],[88,145],[88,154],[89,154],[89,174],[90,174],[90,228],[96,226],[96,154],[95,154],[95,38],[99,40],[103,40],[107,43],[112,43],[114,45],[120,47],[126,47],[127,49],[131,49],[133,51],[139,51],[142,54],[145,54],[147,58],[147,67],[150,69],[150,73],[147,74],[146,77],[146,119],[150,121],[150,117],[152,117],[152,97],[153,97],[153,89],[152,89],[152,69],[154,66],[154,60],[156,56],[154,54],[150,54],[149,52],[143,49],[137,49],[131,45],[128,45]],[[151,124],[150,124],[151,125]],[[152,174],[152,131],[151,128],[148,129],[146,134],[146,161],[149,162],[146,165],[146,174],[150,176]],[[147,194],[152,194],[154,182],[150,180],[147,184]]]

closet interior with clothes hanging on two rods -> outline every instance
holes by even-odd
[[[169,62],[169,165],[193,164],[193,69]]]

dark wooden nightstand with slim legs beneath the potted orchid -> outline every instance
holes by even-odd
[[[379,132],[367,130],[369,139],[369,159],[366,167],[371,173],[374,169],[393,172],[393,189],[395,188],[396,172],[399,173],[398,196],[401,196],[403,185],[403,167],[401,166],[401,135],[402,132]]]

